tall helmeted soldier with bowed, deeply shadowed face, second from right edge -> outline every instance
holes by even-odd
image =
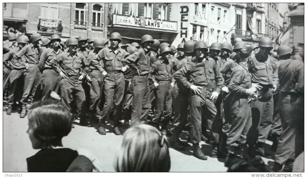
[[[260,51],[251,56],[248,64],[253,87],[258,84],[255,87],[258,97],[251,102],[253,125],[247,135],[247,140],[251,156],[254,156],[254,151],[256,151],[256,154],[265,157],[263,145],[272,124],[274,109],[272,92],[277,89],[277,78],[270,57],[270,51],[273,48],[271,39],[269,37],[261,38],[259,48]]]

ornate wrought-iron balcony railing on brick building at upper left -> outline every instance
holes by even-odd
[[[41,33],[62,33],[62,21],[40,18],[37,25],[37,30]]]

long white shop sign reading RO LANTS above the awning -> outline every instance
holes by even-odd
[[[143,28],[177,31],[177,22],[175,21],[165,21],[165,20],[160,21],[160,20],[145,18],[145,26],[144,26],[144,23],[141,23],[139,17],[134,18],[119,14],[113,14],[113,24],[129,25],[134,27],[143,26]]]

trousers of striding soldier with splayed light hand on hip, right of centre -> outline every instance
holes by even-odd
[[[191,92],[190,95],[191,142],[193,144],[200,142],[202,122],[205,122],[205,127],[211,131],[210,141],[217,144],[218,140],[212,133],[212,126],[217,113],[214,102],[210,99],[212,92],[203,87],[199,95],[194,92]]]

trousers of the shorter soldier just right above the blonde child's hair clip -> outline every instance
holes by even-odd
[[[169,81],[158,81],[155,91],[156,110],[153,112],[152,122],[155,124],[168,123],[172,114],[172,85]]]

